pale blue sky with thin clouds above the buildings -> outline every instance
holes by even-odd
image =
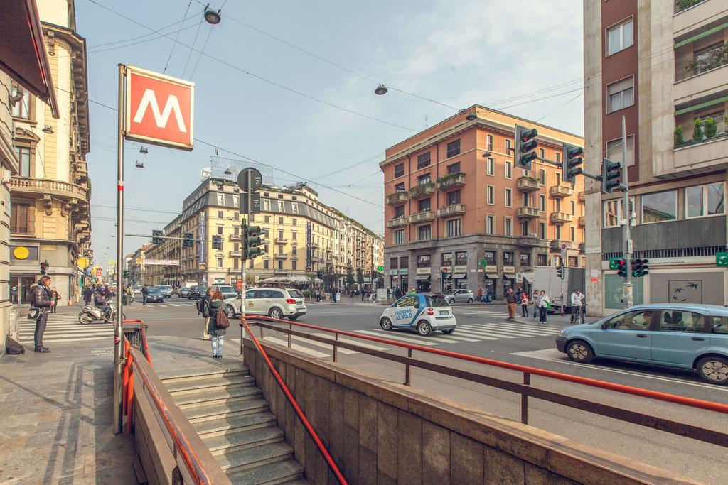
[[[384,150],[458,108],[583,133],[579,0],[216,0],[218,25],[204,23],[200,0],[75,3],[92,100],[92,246],[104,266],[116,252],[116,113],[103,105],[116,106],[118,63],[194,81],[195,137],[241,166],[244,156],[285,170],[270,169],[280,185],[311,181],[377,233]],[[379,82],[387,95],[373,94]],[[125,232],[149,234],[181,211],[215,149],[143,155],[127,142],[125,153]],[[124,252],[147,241],[127,236]]]

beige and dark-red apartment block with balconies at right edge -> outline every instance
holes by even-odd
[[[728,179],[728,3],[584,3],[585,160],[622,161],[626,121],[630,209],[622,194],[587,181],[587,304],[622,308],[622,223],[649,275],[634,278],[634,302],[728,302],[725,184]],[[697,127],[697,130],[696,130]],[[596,280],[596,281],[595,281]]]

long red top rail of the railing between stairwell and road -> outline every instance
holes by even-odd
[[[540,375],[542,377],[550,377],[552,379],[563,380],[566,382],[574,382],[582,385],[589,385],[593,388],[601,388],[607,390],[614,390],[620,393],[631,394],[633,396],[640,396],[643,398],[655,399],[657,401],[665,401],[673,404],[681,404],[683,406],[695,407],[698,409],[706,409],[708,411],[720,412],[728,414],[728,404],[720,404],[712,401],[703,401],[701,399],[687,398],[684,396],[676,396],[675,394],[661,393],[657,390],[648,390],[633,388],[629,385],[615,384],[614,382],[606,382],[603,380],[590,379],[588,377],[579,377],[569,374],[562,374],[561,372],[549,371],[545,369],[538,369],[537,367],[522,366],[520,364],[510,364],[510,362],[496,361],[491,358],[483,358],[477,356],[469,356],[465,353],[451,352],[450,350],[441,350],[437,348],[427,348],[422,345],[412,345],[403,342],[396,342],[395,340],[387,340],[380,337],[369,337],[368,335],[357,334],[353,332],[347,332],[346,330],[329,329],[325,326],[318,326],[312,324],[304,324],[296,321],[284,321],[277,318],[270,318],[268,316],[245,316],[242,317],[246,320],[267,320],[274,321],[281,324],[303,326],[308,329],[320,330],[323,332],[329,332],[333,334],[346,335],[347,337],[356,337],[363,340],[371,340],[372,342],[384,343],[387,345],[395,345],[397,347],[408,348],[411,350],[420,350],[422,352],[434,353],[440,356],[459,358],[464,361],[477,362],[478,364],[486,364],[489,366],[502,367],[503,369],[510,369],[518,372],[526,372],[527,374]]]

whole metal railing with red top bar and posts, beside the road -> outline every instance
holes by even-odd
[[[245,320],[251,321],[251,323],[258,326],[261,332],[261,337],[263,337],[263,329],[270,329],[275,332],[288,334],[288,347],[291,346],[291,337],[301,337],[307,340],[314,340],[315,342],[332,345],[334,362],[336,362],[338,359],[337,349],[347,348],[348,350],[355,350],[359,353],[365,353],[370,356],[384,358],[388,361],[394,361],[400,364],[404,364],[405,385],[411,385],[411,367],[417,367],[419,369],[438,372],[440,374],[446,374],[451,377],[457,377],[459,379],[467,380],[470,382],[478,382],[480,384],[488,385],[493,388],[509,390],[513,393],[518,393],[521,395],[521,422],[523,422],[523,424],[528,424],[529,397],[531,397],[541,399],[542,401],[561,404],[562,406],[571,407],[573,409],[579,409],[585,412],[598,414],[604,417],[611,417],[616,420],[645,426],[647,428],[662,430],[667,433],[673,433],[679,436],[685,436],[687,438],[692,438],[697,441],[704,441],[705,443],[728,447],[728,433],[711,430],[708,428],[700,428],[700,426],[668,420],[663,417],[652,416],[650,414],[636,412],[630,409],[622,409],[616,406],[611,406],[609,404],[602,404],[595,401],[588,401],[587,399],[566,396],[564,394],[557,393],[551,390],[534,388],[530,385],[531,375],[538,375],[553,380],[561,380],[574,384],[586,385],[592,388],[611,390],[617,393],[629,394],[632,396],[639,396],[655,401],[678,404],[690,408],[704,409],[707,411],[718,412],[721,414],[728,414],[728,404],[719,404],[712,401],[702,401],[700,399],[676,396],[674,394],[662,393],[655,390],[633,388],[628,385],[615,384],[614,382],[606,382],[596,379],[590,379],[588,377],[579,377],[546,369],[538,369],[536,367],[511,364],[510,362],[496,361],[490,358],[469,356],[467,354],[451,352],[449,350],[427,348],[422,345],[412,345],[380,337],[369,337],[368,335],[357,334],[354,332],[346,332],[344,330],[329,329],[324,326],[304,324],[301,322],[276,320],[274,318],[269,318],[266,316],[249,316],[245,317]],[[286,326],[288,328],[286,328]],[[299,332],[297,330],[294,330],[293,326],[311,329],[317,332],[331,333],[334,335],[334,338],[332,340],[331,338],[321,337],[317,334]],[[248,333],[250,333],[252,336],[252,332],[250,332],[250,330],[248,330]],[[405,348],[407,349],[407,356],[401,356],[395,353],[385,352],[383,350],[374,350],[372,348],[363,347],[361,345],[357,345],[356,343],[352,343],[351,341],[340,340],[339,336],[355,337],[360,340],[369,340],[371,342],[379,342],[386,345],[392,345],[394,347]],[[490,377],[483,374],[477,374],[475,372],[465,371],[462,369],[455,369],[451,365],[441,365],[435,364],[431,361],[422,361],[416,358],[412,358],[412,354],[414,351],[434,354],[438,356],[446,356],[457,359],[459,361],[470,361],[478,364],[484,364],[487,366],[499,367],[502,369],[513,370],[515,372],[521,372],[523,374],[523,383],[521,384],[518,382],[510,382],[507,380],[499,379],[497,377]]]

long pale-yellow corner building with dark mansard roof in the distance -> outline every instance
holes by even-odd
[[[261,213],[250,223],[266,231],[264,254],[248,261],[248,284],[286,277],[306,283],[321,271],[323,283],[343,286],[347,274],[371,284],[382,265],[382,241],[372,231],[333,207],[311,188],[296,191],[261,188]],[[240,189],[231,180],[208,178],[182,204],[182,214],[165,227],[165,236],[144,251],[147,259],[178,260],[179,265],[145,266],[146,284],[237,284],[241,277],[242,215]],[[193,246],[183,246],[189,235]],[[219,236],[222,249],[213,249]],[[141,280],[137,280],[141,281]]]

